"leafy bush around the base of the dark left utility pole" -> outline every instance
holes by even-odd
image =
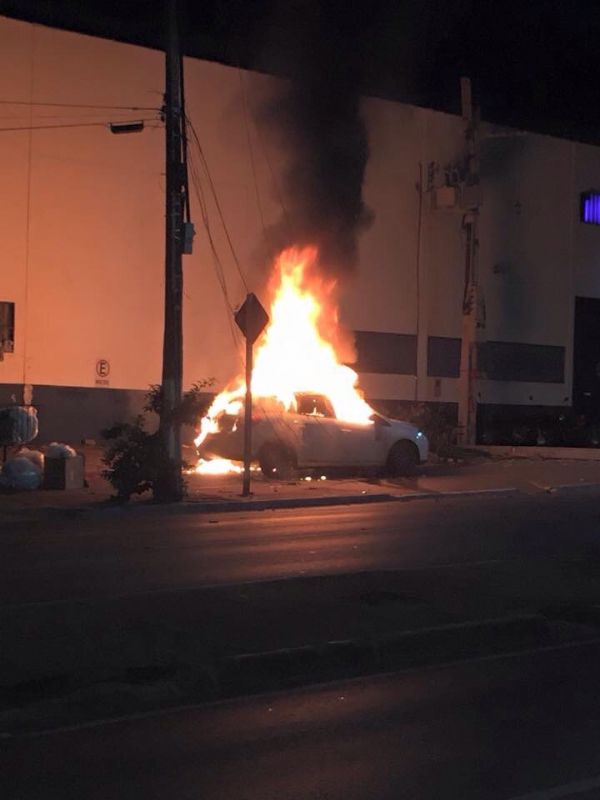
[[[175,418],[180,424],[195,425],[206,414],[211,402],[211,395],[206,389],[213,383],[212,379],[197,381],[184,393],[175,411]],[[102,431],[103,438],[107,440],[102,456],[106,469],[102,471],[102,477],[116,490],[119,500],[127,501],[134,494],[155,492],[166,454],[159,432],[149,433],[146,430],[146,415],[154,413],[160,416],[161,411],[162,387],[151,386],[143,414],[132,423],[117,423]],[[182,462],[181,467],[184,466]]]

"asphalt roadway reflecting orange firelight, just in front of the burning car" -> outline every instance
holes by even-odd
[[[600,555],[594,490],[202,514],[112,509],[0,522],[0,603]]]

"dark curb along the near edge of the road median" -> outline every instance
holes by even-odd
[[[97,724],[114,716],[224,701],[406,669],[425,669],[506,652],[555,646],[553,623],[541,614],[498,617],[400,631],[377,639],[244,653],[212,664],[165,664],[95,676],[77,675],[2,687],[0,737]],[[563,637],[564,639],[564,637]]]

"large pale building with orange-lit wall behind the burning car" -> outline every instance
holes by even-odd
[[[96,437],[135,413],[160,379],[163,59],[0,17],[0,404],[36,405],[44,440]],[[284,156],[254,112],[278,81],[195,59],[185,72],[188,116],[260,294],[267,265],[257,253],[264,226],[281,213]],[[442,195],[429,189],[443,186],[463,151],[462,120],[371,98],[364,115],[374,221],[341,307],[356,332],[361,385],[392,408],[456,403],[462,213],[458,204],[436,208]],[[111,135],[107,123],[133,118],[146,120],[142,133]],[[600,148],[486,124],[481,134],[483,428],[490,414],[570,408],[574,385],[576,407],[589,406],[598,389],[600,344],[595,358],[581,342],[600,342],[600,227],[582,221],[581,197],[600,188]],[[191,159],[206,186],[193,145]],[[206,203],[236,306],[245,290],[210,193]],[[222,386],[242,362],[196,196],[192,216],[184,383],[214,377]]]

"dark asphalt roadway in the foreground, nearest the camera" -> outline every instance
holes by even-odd
[[[586,645],[5,740],[2,795],[590,800],[599,690]]]

